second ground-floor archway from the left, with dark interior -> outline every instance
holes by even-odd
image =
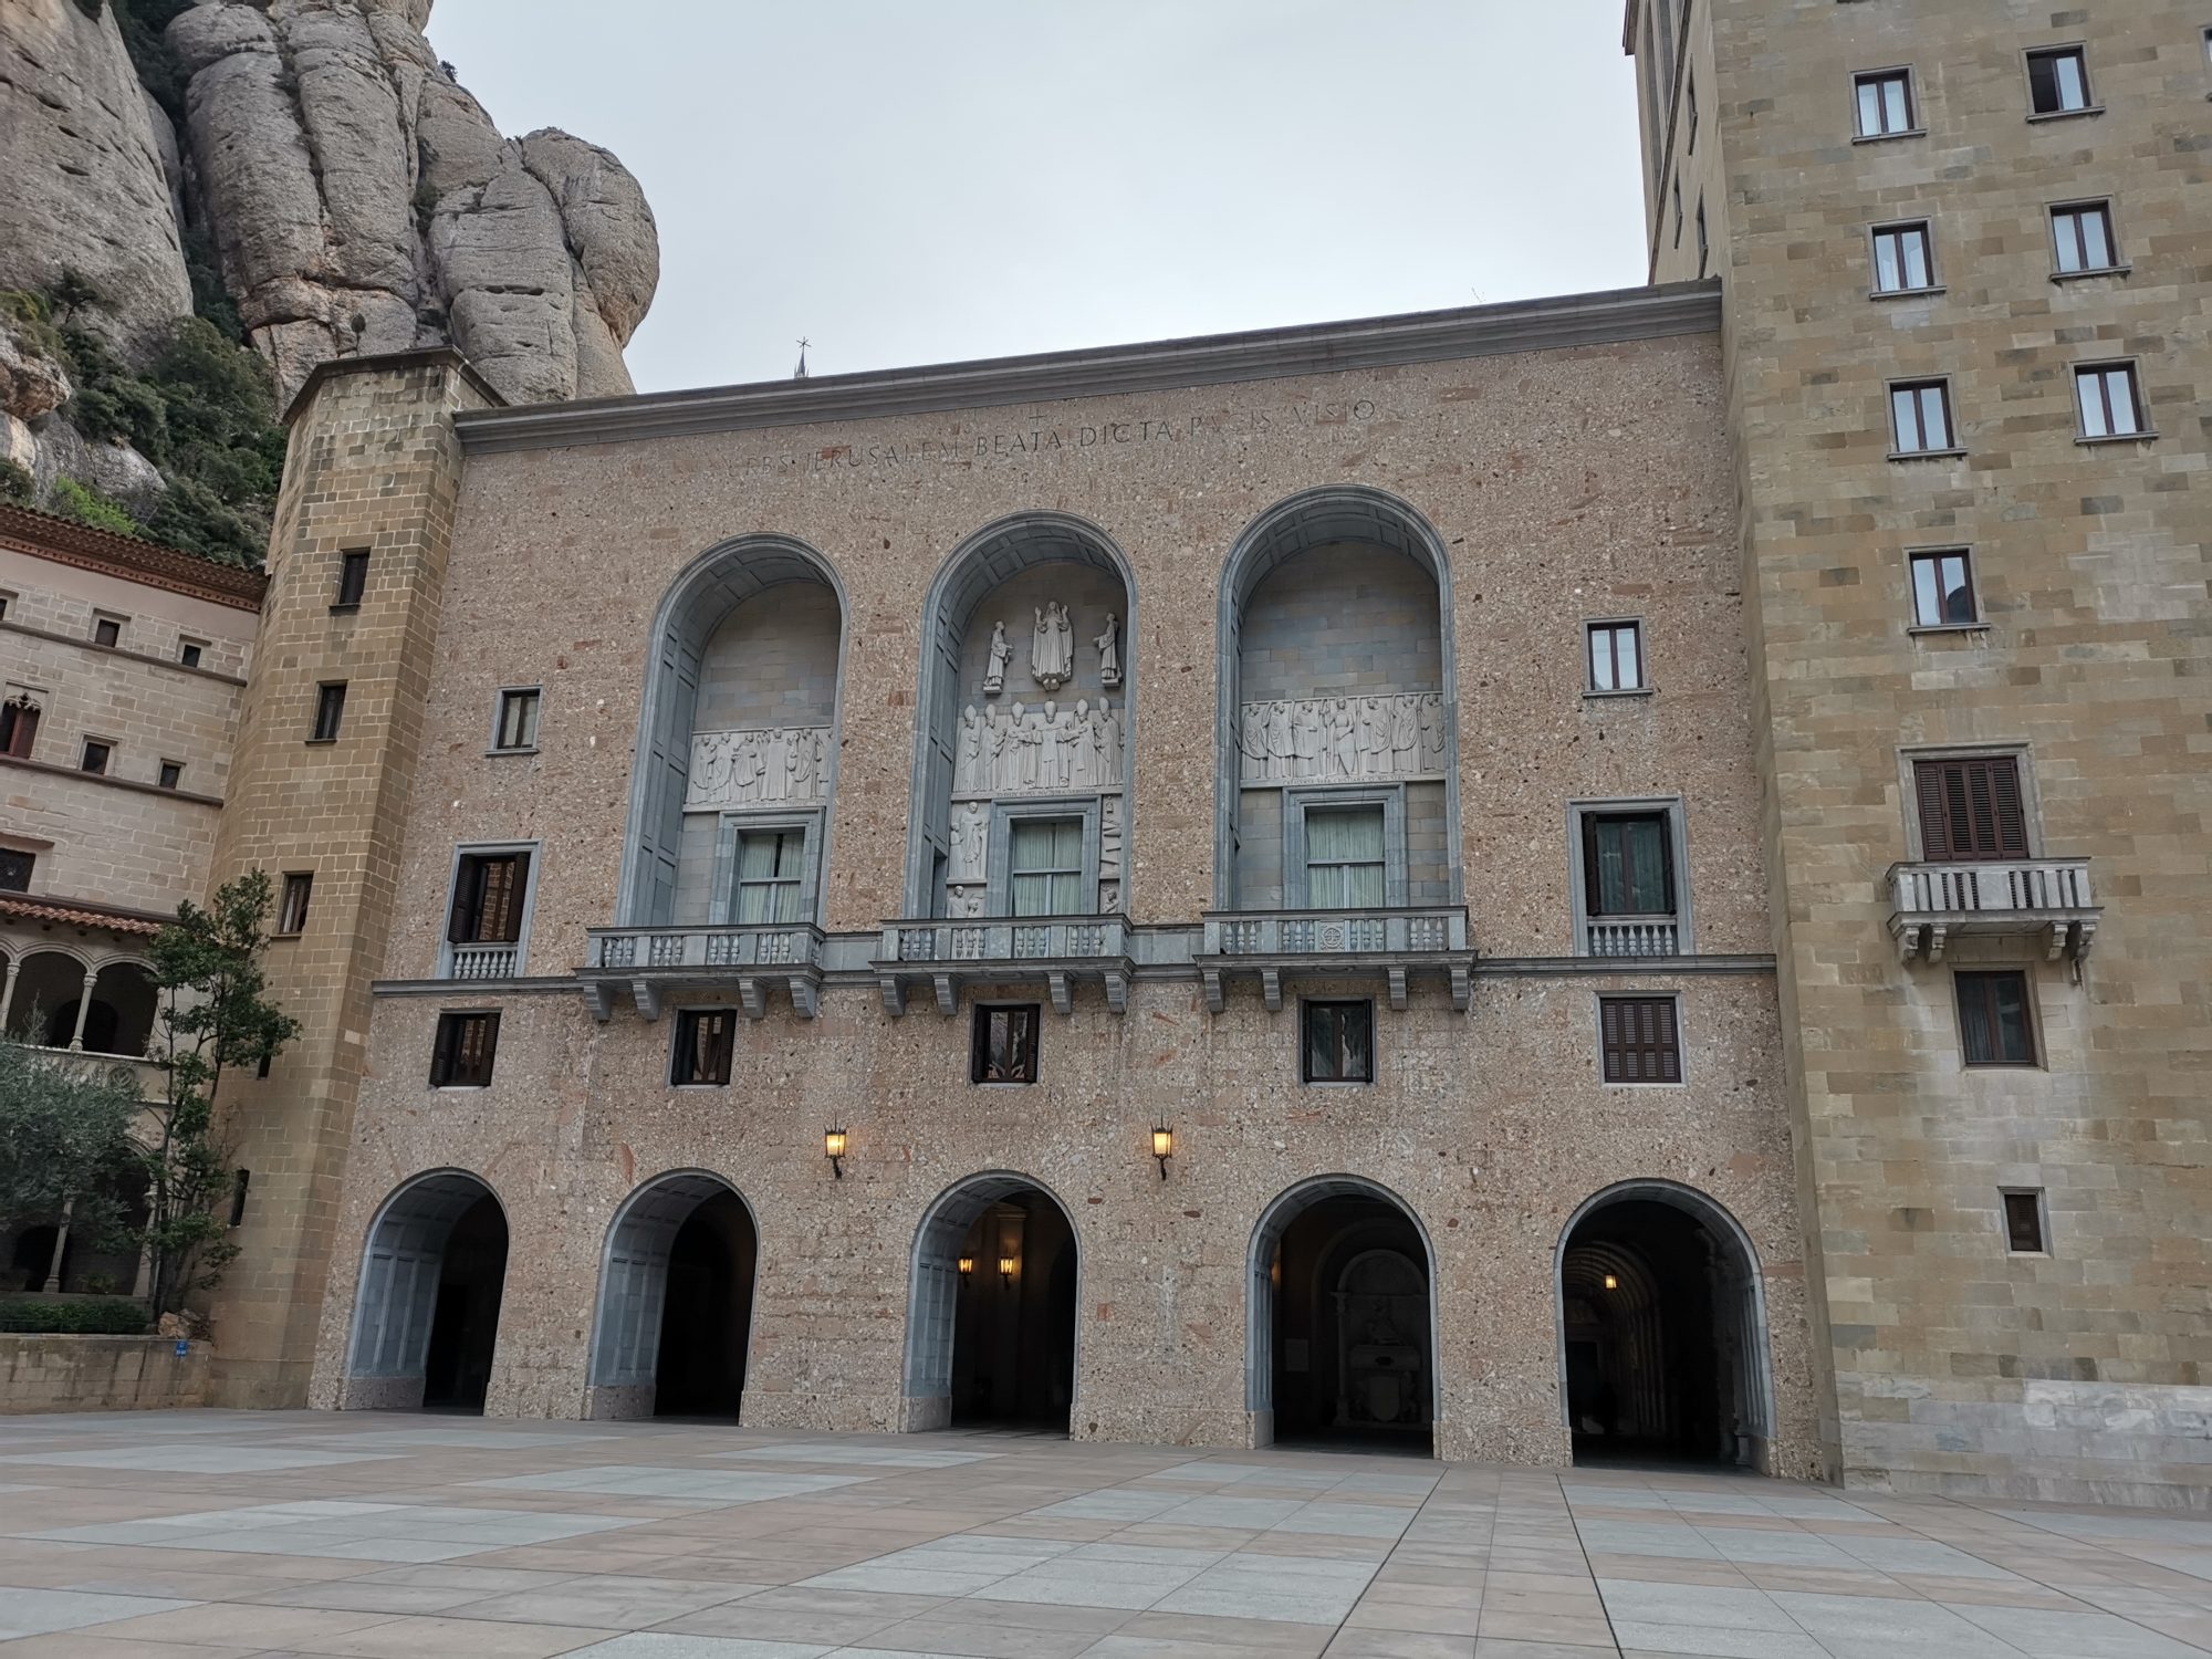
[[[677,1170],[606,1234],[588,1418],[739,1418],[761,1232],[737,1188]]]

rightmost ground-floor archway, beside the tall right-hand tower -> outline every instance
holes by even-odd
[[[1575,1462],[1765,1467],[1759,1261],[1705,1194],[1628,1181],[1575,1212],[1559,1237],[1559,1343]]]

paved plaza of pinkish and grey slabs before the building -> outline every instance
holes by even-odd
[[[0,1418],[7,1659],[2185,1659],[2212,1517],[436,1416]]]

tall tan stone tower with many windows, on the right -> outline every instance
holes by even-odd
[[[1650,274],[1725,296],[1851,1482],[2205,1493],[2205,22],[1628,4]]]

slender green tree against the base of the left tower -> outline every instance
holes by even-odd
[[[195,1290],[212,1290],[239,1254],[223,1239],[234,1177],[215,1137],[215,1091],[228,1066],[259,1064],[299,1035],[299,1020],[263,995],[268,914],[268,872],[250,869],[223,883],[206,909],[177,905],[177,920],[155,933],[148,951],[168,1037],[168,1088],[150,1110],[155,1128],[142,1150],[155,1316],[175,1312]]]

